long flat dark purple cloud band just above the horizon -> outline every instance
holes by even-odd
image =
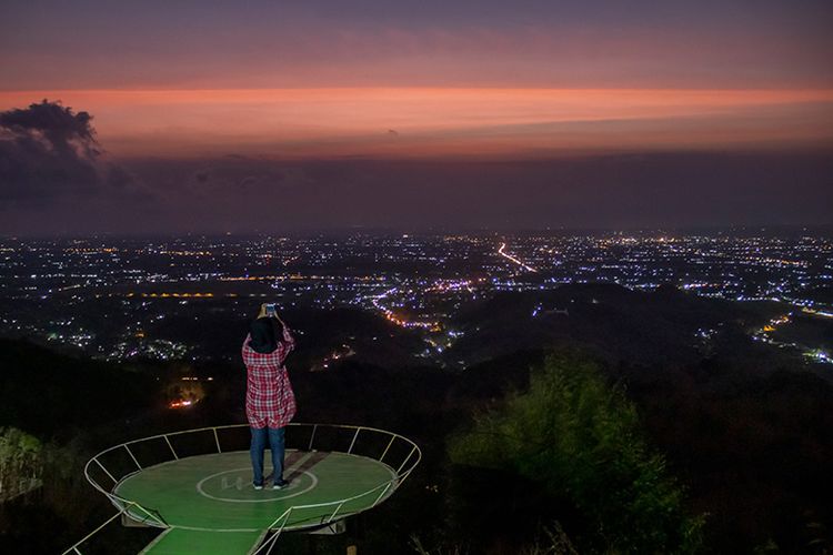
[[[681,228],[833,223],[830,152],[645,152],[534,161],[211,162],[168,188],[171,230]],[[147,182],[205,161],[137,162]],[[151,171],[152,169],[152,171]],[[160,185],[161,186],[161,185]],[[193,226],[193,228],[190,228]]]

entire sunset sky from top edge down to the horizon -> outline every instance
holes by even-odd
[[[833,223],[831,29],[829,1],[9,0],[0,232]]]

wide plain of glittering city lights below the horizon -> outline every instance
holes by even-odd
[[[199,329],[207,315],[233,322],[267,301],[284,311],[379,315],[425,341],[428,354],[414,356],[441,362],[465,333],[454,319],[472,303],[565,284],[646,292],[671,285],[702,297],[777,303],[782,314],[751,323],[749,335],[817,362],[827,360],[817,354],[825,345],[786,340],[784,331],[796,314],[833,317],[833,306],[812,294],[833,284],[833,241],[811,235],[526,233],[504,235],[496,249],[493,235],[476,233],[2,239],[0,260],[0,287],[11,301],[0,322],[7,335],[43,337],[111,361],[215,356],[211,344],[177,327]],[[538,302],[528,314],[570,312]],[[353,356],[352,349],[330,349],[320,364]]]

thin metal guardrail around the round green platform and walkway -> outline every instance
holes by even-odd
[[[283,513],[281,513],[280,515],[275,517],[272,524],[269,525],[268,529],[273,531],[273,534],[265,542],[261,544],[261,546],[254,552],[254,554],[264,553],[268,555],[269,553],[271,553],[281,533],[284,532],[284,529],[289,529],[287,528],[287,525],[290,521],[290,516],[292,516],[293,513],[298,513],[304,509],[313,509],[313,508],[324,509],[324,508],[333,507],[332,513],[330,513],[329,511],[322,513],[323,516],[318,522],[311,522],[309,525],[292,528],[292,529],[301,529],[304,527],[309,528],[309,527],[327,526],[329,524],[332,524],[335,521],[347,518],[348,516],[358,513],[357,511],[342,512],[342,508],[344,507],[345,504],[349,504],[350,502],[353,502],[357,500],[371,497],[372,495],[375,495],[372,504],[370,504],[370,506],[365,508],[362,508],[362,511],[367,511],[368,508],[375,507],[379,503],[381,503],[385,498],[385,495],[392,494],[400,485],[402,485],[402,483],[408,478],[408,476],[411,475],[411,472],[416,467],[416,465],[422,460],[422,452],[420,451],[419,446],[415,443],[413,443],[408,437],[395,434],[393,432],[388,432],[385,430],[368,427],[368,426],[352,426],[352,425],[347,425],[347,424],[304,424],[304,423],[290,423],[289,427],[311,428],[310,440],[309,440],[309,443],[305,445],[307,447],[305,451],[315,451],[314,448],[317,446],[315,437],[317,437],[319,430],[335,430],[339,432],[349,431],[352,433],[352,437],[350,441],[350,447],[347,451],[339,451],[339,450],[332,450],[332,448],[327,450],[333,453],[344,453],[348,455],[354,454],[353,450],[355,447],[357,440],[359,438],[359,435],[362,432],[375,433],[375,434],[382,434],[384,436],[389,436],[390,441],[388,442],[388,445],[385,446],[382,455],[379,458],[375,458],[375,457],[369,457],[369,458],[374,458],[375,461],[388,465],[392,470],[393,470],[393,466],[389,463],[385,463],[384,461],[385,461],[385,457],[389,457],[389,453],[391,452],[391,447],[394,445],[394,443],[397,441],[405,442],[405,448],[408,448],[408,446],[410,446],[411,448],[404,458],[402,458],[401,461],[397,461],[399,462],[399,465],[397,466],[394,471],[394,475],[391,480],[383,482],[367,492],[362,492],[351,497],[335,500],[335,501],[331,501],[327,503],[292,505],[289,508],[287,508]],[[170,462],[170,461],[178,461],[180,456],[177,453],[177,451],[173,448],[171,438],[177,437],[177,436],[182,436],[182,435],[199,434],[199,433],[210,431],[213,433],[213,436],[214,436],[214,446],[217,447],[215,451],[211,450],[204,453],[189,454],[188,456],[200,456],[200,455],[207,455],[211,453],[223,453],[222,445],[220,443],[220,435],[218,434],[218,431],[219,430],[232,430],[232,428],[247,428],[248,430],[249,424],[229,424],[224,426],[209,426],[209,427],[201,427],[201,428],[195,428],[195,430],[184,430],[180,432],[171,432],[167,434],[152,435],[149,437],[142,437],[140,440],[132,440],[129,442],[120,443],[112,447],[106,448],[104,451],[98,453],[96,456],[90,458],[84,465],[84,477],[96,490],[98,490],[104,496],[107,496],[110,500],[110,502],[119,509],[119,512],[116,513],[110,518],[108,518],[98,528],[96,528],[90,534],[84,536],[82,539],[77,542],[66,552],[63,552],[63,555],[72,554],[72,553],[82,555],[81,551],[79,549],[81,544],[83,544],[84,542],[88,542],[91,537],[93,537],[101,529],[103,529],[104,526],[107,526],[108,524],[110,524],[112,521],[114,521],[121,515],[127,515],[128,517],[132,519],[139,519],[143,524],[155,526],[159,528],[175,527],[175,525],[170,525],[169,523],[167,523],[163,516],[158,511],[150,508],[150,507],[143,507],[142,505],[140,505],[139,503],[134,501],[126,500],[124,497],[121,497],[117,495],[116,493],[113,493],[113,491],[116,490],[116,486],[120,484],[123,480],[126,480],[129,476],[132,476],[133,474],[142,472],[145,468],[139,463],[139,460],[134,455],[133,451],[131,451],[130,448],[131,446],[140,445],[142,443],[153,442],[157,440],[164,441],[164,443],[168,445],[170,450],[172,458],[155,462],[153,465],[147,466],[147,467],[150,467],[150,466],[155,466],[157,464],[162,464],[162,463]],[[107,454],[114,453],[120,450],[123,450],[123,452],[129,456],[129,460],[132,461],[132,463],[136,465],[137,470],[131,471],[131,472],[120,473],[116,471],[110,472],[107,468],[104,463],[102,463],[101,458]],[[240,450],[233,450],[233,451],[240,451]],[[367,456],[367,455],[362,455],[362,456]],[[96,467],[100,468],[112,481],[113,485],[111,490],[107,490],[106,487],[101,486],[92,476],[92,470]],[[141,514],[142,516],[138,517],[138,514]]]

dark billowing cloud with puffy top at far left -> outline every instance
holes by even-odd
[[[0,112],[0,202],[145,194],[134,175],[106,160],[88,112],[46,99]]]

